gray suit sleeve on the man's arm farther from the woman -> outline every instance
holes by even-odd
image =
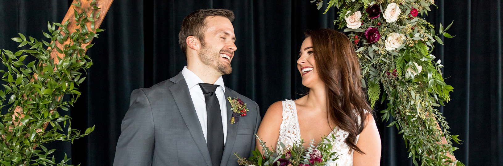
[[[155,141],[154,122],[150,103],[141,89],[135,89],[131,93],[121,131],[114,166],[151,165]]]

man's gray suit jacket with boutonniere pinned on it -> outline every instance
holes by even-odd
[[[234,152],[247,157],[255,150],[261,118],[257,103],[225,87],[228,96],[239,97],[249,109],[239,122],[228,122],[220,163],[238,165]],[[227,102],[228,121],[230,108]],[[134,90],[121,130],[114,165],[212,165],[182,72],[150,88]]]

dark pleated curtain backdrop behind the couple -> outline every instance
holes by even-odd
[[[49,22],[60,23],[71,0],[0,1],[0,48],[17,50],[10,40],[17,33],[43,38]],[[325,2],[326,3],[326,2]],[[454,153],[466,165],[503,165],[503,115],[501,79],[501,2],[486,0],[437,0],[429,16],[455,38],[442,38],[445,46],[434,51],[442,60],[447,84],[455,89],[451,101],[439,107],[450,123],[451,134],[464,142]],[[326,4],[324,5],[326,7]],[[88,51],[94,65],[81,84],[81,98],[70,111],[72,127],[96,125],[89,136],[70,142],[53,142],[56,157],[64,153],[72,163],[112,165],[121,121],[133,89],[150,87],[178,74],[186,65],[178,45],[182,20],[198,9],[229,9],[237,51],[233,72],[225,85],[255,100],[264,115],[270,104],[299,98],[303,90],[296,69],[298,50],[307,29],[334,29],[337,10],[327,14],[302,1],[138,1],[116,0],[101,28],[99,39]],[[44,38],[45,39],[45,38]],[[25,46],[26,47],[26,46]],[[29,61],[27,61],[29,62]],[[0,67],[4,69],[5,67]],[[378,110],[385,109],[377,105]],[[5,113],[5,110],[3,111]],[[412,165],[402,135],[386,127],[376,111],[381,134],[381,165]]]

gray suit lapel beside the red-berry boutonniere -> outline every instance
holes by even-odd
[[[227,106],[227,138],[225,140],[225,147],[223,149],[223,154],[222,154],[222,161],[220,162],[220,165],[227,165],[227,162],[229,161],[229,158],[232,153],[232,148],[234,147],[234,142],[236,140],[236,133],[237,133],[237,126],[239,125],[239,122],[230,124],[230,118],[232,117],[232,111],[230,108],[232,106],[230,105],[229,101],[227,100],[227,97],[238,97],[234,93],[231,92],[231,90],[227,87],[225,87],[225,103]]]

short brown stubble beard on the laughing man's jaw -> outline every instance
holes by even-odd
[[[199,59],[203,62],[203,64],[208,65],[218,71],[222,75],[230,74],[232,72],[232,67],[223,64],[220,61],[220,52],[230,52],[230,51],[215,51],[212,50],[211,47],[206,47],[205,45],[201,46],[201,52],[199,52]],[[230,60],[229,60],[230,61]]]

